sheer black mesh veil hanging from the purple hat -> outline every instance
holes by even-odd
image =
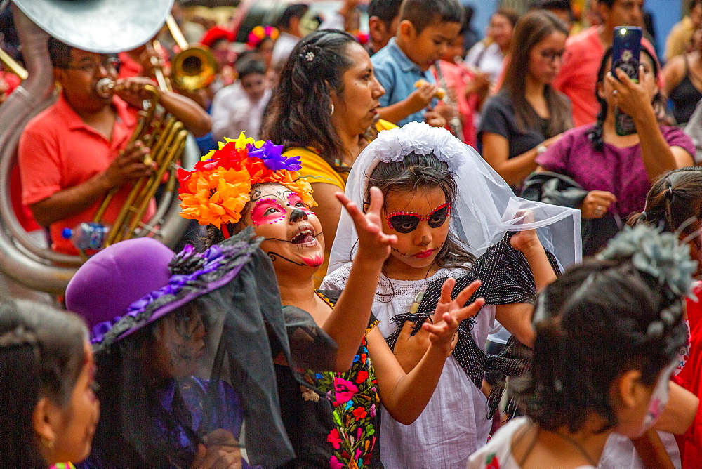
[[[102,411],[87,467],[190,468],[200,444],[240,453],[244,468],[293,458],[273,365],[289,359],[286,324],[270,260],[249,243],[230,282],[98,346]]]

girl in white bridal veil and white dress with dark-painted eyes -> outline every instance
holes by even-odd
[[[425,341],[416,332],[430,317],[443,279],[456,277],[458,285],[479,278],[483,286],[476,295],[486,298],[483,310],[461,324],[453,357],[420,418],[401,425],[383,415],[380,458],[387,468],[465,467],[491,426],[480,386],[486,362],[499,360],[482,351],[486,336],[497,315],[513,335],[531,342],[526,303],[554,278],[553,270],[580,262],[580,212],[515,197],[475,150],[420,123],[381,132],[355,161],[346,196],[366,206],[369,181],[386,197],[383,230],[416,240],[414,248],[409,241],[405,248],[397,244],[373,301],[380,332],[397,345],[400,362],[410,369],[416,363]],[[343,213],[322,289],[343,289],[356,244],[352,220]],[[422,299],[418,293],[425,290]]]

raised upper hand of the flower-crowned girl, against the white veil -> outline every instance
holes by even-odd
[[[390,256],[390,246],[397,243],[395,234],[385,234],[381,227],[383,218],[380,210],[383,209],[383,192],[378,187],[371,187],[371,203],[366,213],[342,192],[336,192],[336,198],[343,204],[351,216],[358,234],[357,259],[373,262],[385,262]]]

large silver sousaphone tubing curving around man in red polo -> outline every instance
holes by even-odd
[[[17,147],[27,122],[55,100],[51,60],[46,48],[48,34],[11,4],[29,77],[0,107],[0,272],[29,289],[61,294],[83,260],[39,246],[20,225],[11,203],[10,178],[17,164]],[[192,169],[200,153],[188,136],[181,165]],[[143,229],[154,232],[164,244],[175,246],[187,220],[178,215],[174,191],[166,192],[157,213]],[[154,230],[153,227],[158,227]],[[0,292],[1,294],[2,292]]]

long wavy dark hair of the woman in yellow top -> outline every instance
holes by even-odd
[[[280,74],[267,107],[262,140],[290,147],[314,146],[338,172],[347,150],[331,124],[331,91],[343,95],[343,75],[352,65],[347,55],[351,34],[324,29],[298,42]]]

